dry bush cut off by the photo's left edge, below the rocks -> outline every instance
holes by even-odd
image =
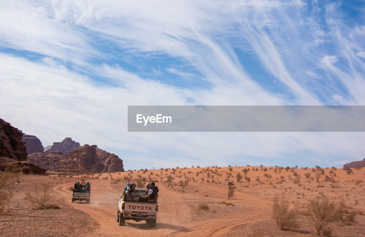
[[[9,186],[15,178],[18,178],[18,172],[11,171],[9,166],[4,171],[0,170],[0,208],[11,199],[13,194]]]

